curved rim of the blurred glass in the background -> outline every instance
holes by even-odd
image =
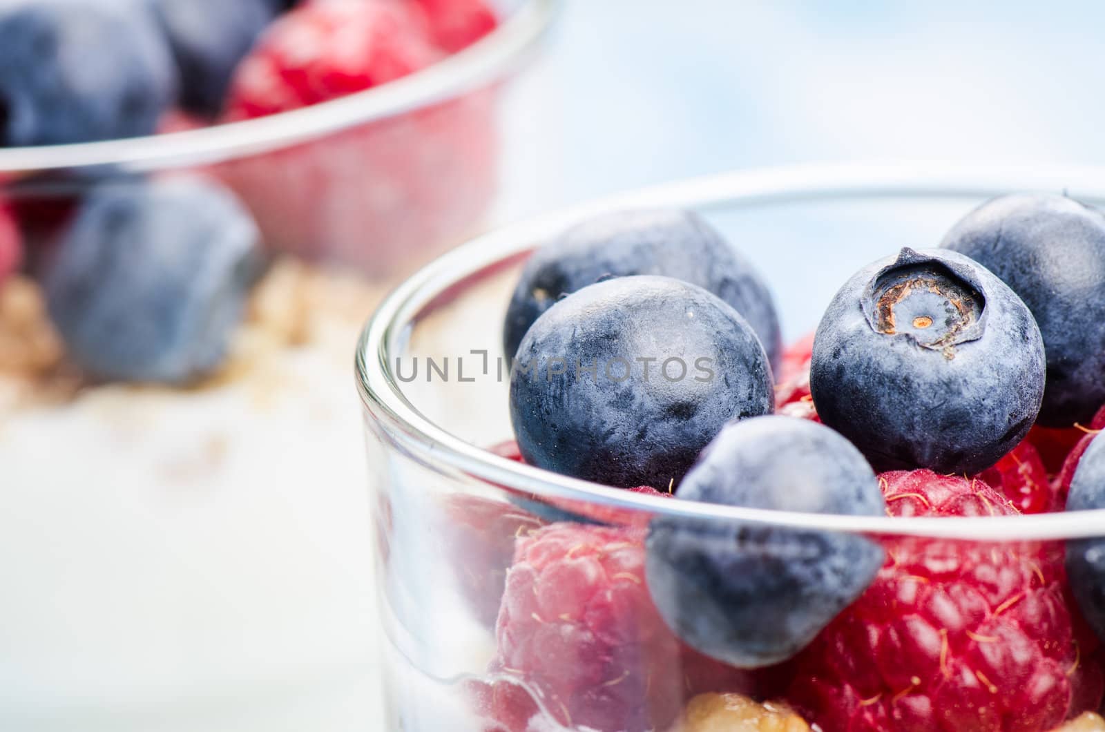
[[[0,172],[31,174],[112,166],[148,172],[212,165],[291,147],[358,125],[453,100],[505,76],[533,51],[562,0],[525,0],[471,46],[377,88],[302,109],[145,137],[0,148]]]

